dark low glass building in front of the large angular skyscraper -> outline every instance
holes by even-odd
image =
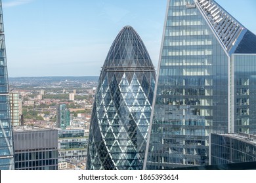
[[[210,165],[256,161],[256,135],[211,133],[209,142]]]

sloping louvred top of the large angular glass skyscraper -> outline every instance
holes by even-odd
[[[247,30],[213,0],[194,0],[228,54],[256,53],[256,35]]]

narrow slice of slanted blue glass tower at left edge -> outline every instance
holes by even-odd
[[[0,0],[0,170],[14,169],[7,59]]]

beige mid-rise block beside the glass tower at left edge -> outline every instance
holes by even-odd
[[[11,124],[12,126],[21,125],[20,116],[22,115],[22,99],[17,92],[9,93],[10,109],[11,109]]]

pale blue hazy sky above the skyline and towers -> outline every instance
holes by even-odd
[[[255,0],[216,0],[256,33]],[[9,76],[98,76],[131,25],[158,67],[167,0],[2,0]]]

